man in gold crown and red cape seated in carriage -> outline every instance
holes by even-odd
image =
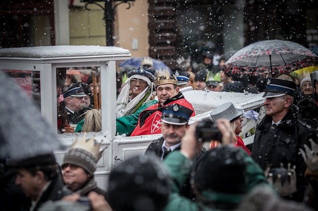
[[[179,104],[193,110],[193,106],[179,92],[178,82],[174,75],[167,73],[159,75],[156,79],[156,92],[158,103],[143,110],[138,119],[138,125],[131,136],[153,135],[161,133],[161,111],[159,108],[172,104]]]

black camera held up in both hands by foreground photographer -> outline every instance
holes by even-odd
[[[217,140],[222,142],[222,133],[216,123],[210,119],[204,119],[196,127],[195,135],[200,142]]]

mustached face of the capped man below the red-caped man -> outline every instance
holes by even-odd
[[[173,125],[161,122],[161,133],[167,147],[179,144],[187,128],[188,125]]]

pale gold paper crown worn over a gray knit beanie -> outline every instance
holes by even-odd
[[[86,139],[86,135],[87,133],[84,133],[82,138],[80,139],[76,138],[75,142],[71,146],[71,149],[78,148],[78,149],[85,150],[89,152],[90,154],[92,154],[96,158],[96,160],[99,160],[103,152],[103,150],[99,152],[101,143],[97,143],[94,137],[91,137],[90,139]]]

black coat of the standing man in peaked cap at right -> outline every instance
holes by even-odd
[[[310,138],[316,141],[317,137],[297,115],[298,108],[292,105],[278,126],[272,126],[272,117],[265,115],[257,126],[251,156],[263,170],[281,167],[281,163],[286,169],[288,163],[296,165],[297,192],[290,199],[302,201],[307,184],[306,164],[299,150],[309,144]]]

